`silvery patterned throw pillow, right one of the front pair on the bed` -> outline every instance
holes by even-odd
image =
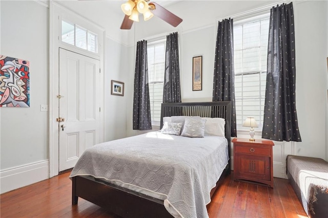
[[[185,126],[183,127],[181,136],[191,138],[203,138],[205,132],[205,119],[186,118]]]

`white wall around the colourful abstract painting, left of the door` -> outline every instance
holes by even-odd
[[[36,2],[1,2],[0,53],[30,61],[30,107],[1,108],[2,192],[9,171],[40,164],[34,179],[49,176],[44,164],[48,161],[49,117],[40,112],[40,105],[49,103],[48,17],[48,8]]]

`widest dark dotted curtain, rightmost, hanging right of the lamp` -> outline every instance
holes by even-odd
[[[267,86],[262,138],[300,142],[295,105],[293,3],[273,7],[270,15]]]

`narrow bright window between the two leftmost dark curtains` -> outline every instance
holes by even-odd
[[[148,82],[152,125],[160,124],[160,107],[163,101],[165,72],[165,40],[150,42],[147,45]]]

